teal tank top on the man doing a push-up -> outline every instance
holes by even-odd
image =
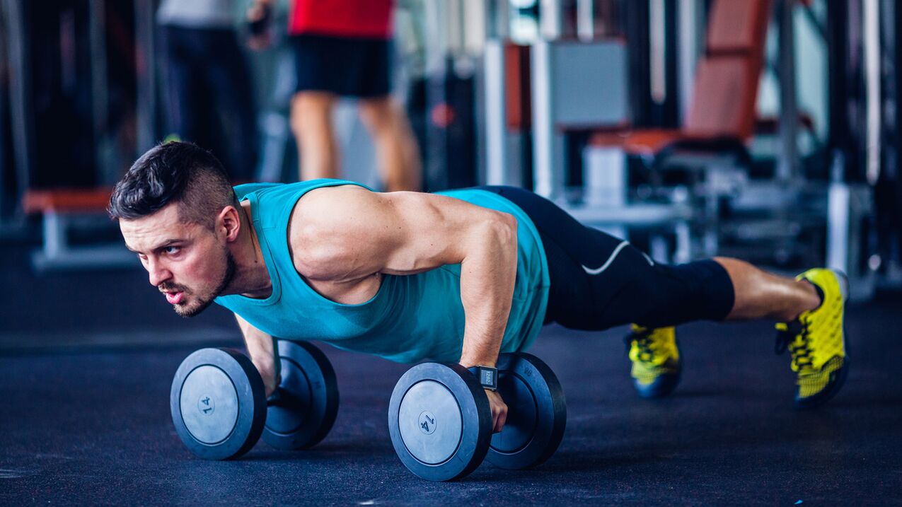
[[[387,274],[376,295],[357,305],[328,300],[295,270],[288,245],[291,211],[309,190],[337,185],[364,187],[344,180],[235,187],[239,200],[250,201],[272,294],[266,299],[220,296],[216,303],[282,339],[320,340],[399,363],[423,359],[456,363],[464,343],[465,320],[460,264],[411,275]],[[538,335],[548,304],[548,262],[536,227],[520,207],[492,192],[463,189],[438,193],[517,218],[517,281],[501,351],[525,350]]]

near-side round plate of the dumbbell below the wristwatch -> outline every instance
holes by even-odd
[[[482,386],[460,364],[417,364],[391,392],[389,434],[414,475],[450,481],[483,462],[492,410]]]

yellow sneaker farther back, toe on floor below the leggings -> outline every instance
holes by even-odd
[[[681,366],[675,327],[630,326],[632,384],[642,398],[661,398],[676,389]]]

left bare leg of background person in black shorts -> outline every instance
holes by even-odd
[[[301,91],[291,99],[291,132],[299,151],[299,178],[337,178],[339,152],[332,111],[337,96],[323,91]]]

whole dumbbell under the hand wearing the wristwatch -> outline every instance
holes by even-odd
[[[460,364],[422,363],[404,373],[389,402],[389,434],[401,463],[429,481],[450,481],[484,460],[518,470],[544,463],[566,427],[557,376],[535,355],[498,358],[507,421],[492,435],[492,410],[473,373]]]

